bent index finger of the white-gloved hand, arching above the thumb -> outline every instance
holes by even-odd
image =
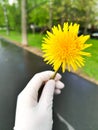
[[[29,81],[27,86],[24,88],[24,90],[19,94],[19,97],[21,97],[24,102],[28,102],[28,104],[37,104],[39,88],[42,86],[43,83],[48,81],[53,74],[53,71],[44,71],[35,74],[34,77]],[[56,79],[60,78],[61,75],[57,74]]]

